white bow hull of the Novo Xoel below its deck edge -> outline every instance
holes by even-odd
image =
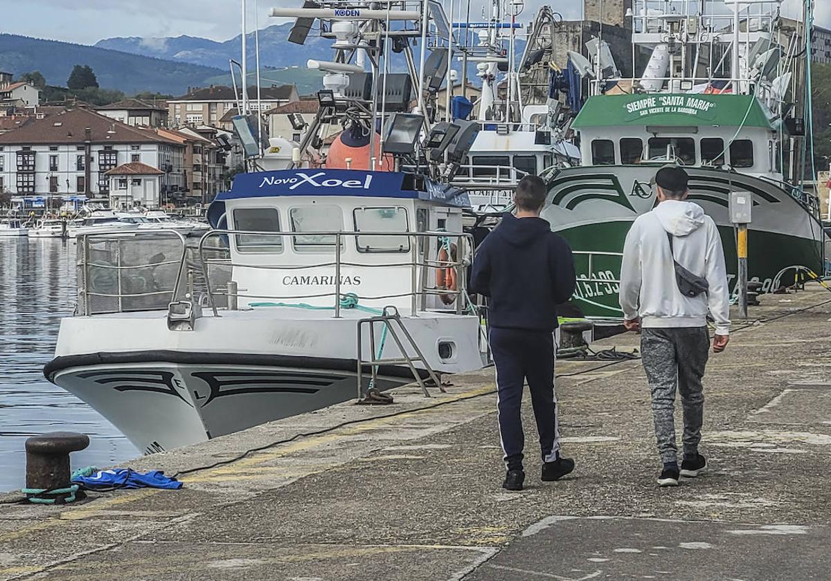
[[[146,361],[134,362],[142,358]],[[356,397],[355,370],[341,369],[337,361],[279,365],[274,358],[256,359],[148,352],[99,364],[76,360],[52,372],[52,381],[89,403],[145,454]],[[377,386],[389,389],[407,381],[383,376]]]

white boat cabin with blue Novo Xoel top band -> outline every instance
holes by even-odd
[[[410,173],[297,169],[239,174],[209,220],[227,229],[240,308],[325,308],[353,293],[362,306],[403,314],[414,305],[459,308],[424,290],[436,286],[443,249],[457,261],[470,252],[462,230],[469,205],[460,190]],[[458,273],[464,284],[461,265]]]

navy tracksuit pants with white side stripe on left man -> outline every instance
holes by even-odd
[[[554,336],[545,331],[490,330],[496,366],[499,436],[509,470],[522,470],[525,437],[520,417],[523,386],[528,380],[543,461],[557,459],[559,427],[554,397]]]

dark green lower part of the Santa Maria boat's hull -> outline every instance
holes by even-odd
[[[602,222],[566,227],[557,231],[575,252],[574,266],[578,274],[578,290],[575,292],[574,300],[586,316],[622,316],[617,303],[620,287],[615,282],[620,280],[621,257],[594,254],[589,258],[582,253],[619,254],[631,226],[632,222],[629,221]],[[732,227],[720,226],[719,233],[725,250],[730,291],[733,291],[736,275],[735,232]],[[750,230],[748,241],[747,262],[750,279],[761,281],[764,292],[770,291],[774,277],[788,266],[807,266],[814,272],[821,271],[819,242],[759,230]],[[783,285],[792,284],[793,271],[783,276],[781,281]]]

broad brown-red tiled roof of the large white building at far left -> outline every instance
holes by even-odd
[[[0,144],[83,144],[87,127],[94,144],[176,143],[148,129],[131,127],[90,110],[74,109],[2,134]]]

